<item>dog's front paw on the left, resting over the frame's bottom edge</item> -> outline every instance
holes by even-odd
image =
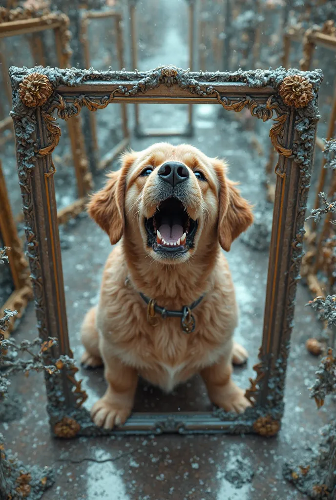
[[[112,429],[114,425],[121,425],[130,415],[131,408],[120,407],[104,397],[98,399],[91,408],[91,418],[98,427]]]

